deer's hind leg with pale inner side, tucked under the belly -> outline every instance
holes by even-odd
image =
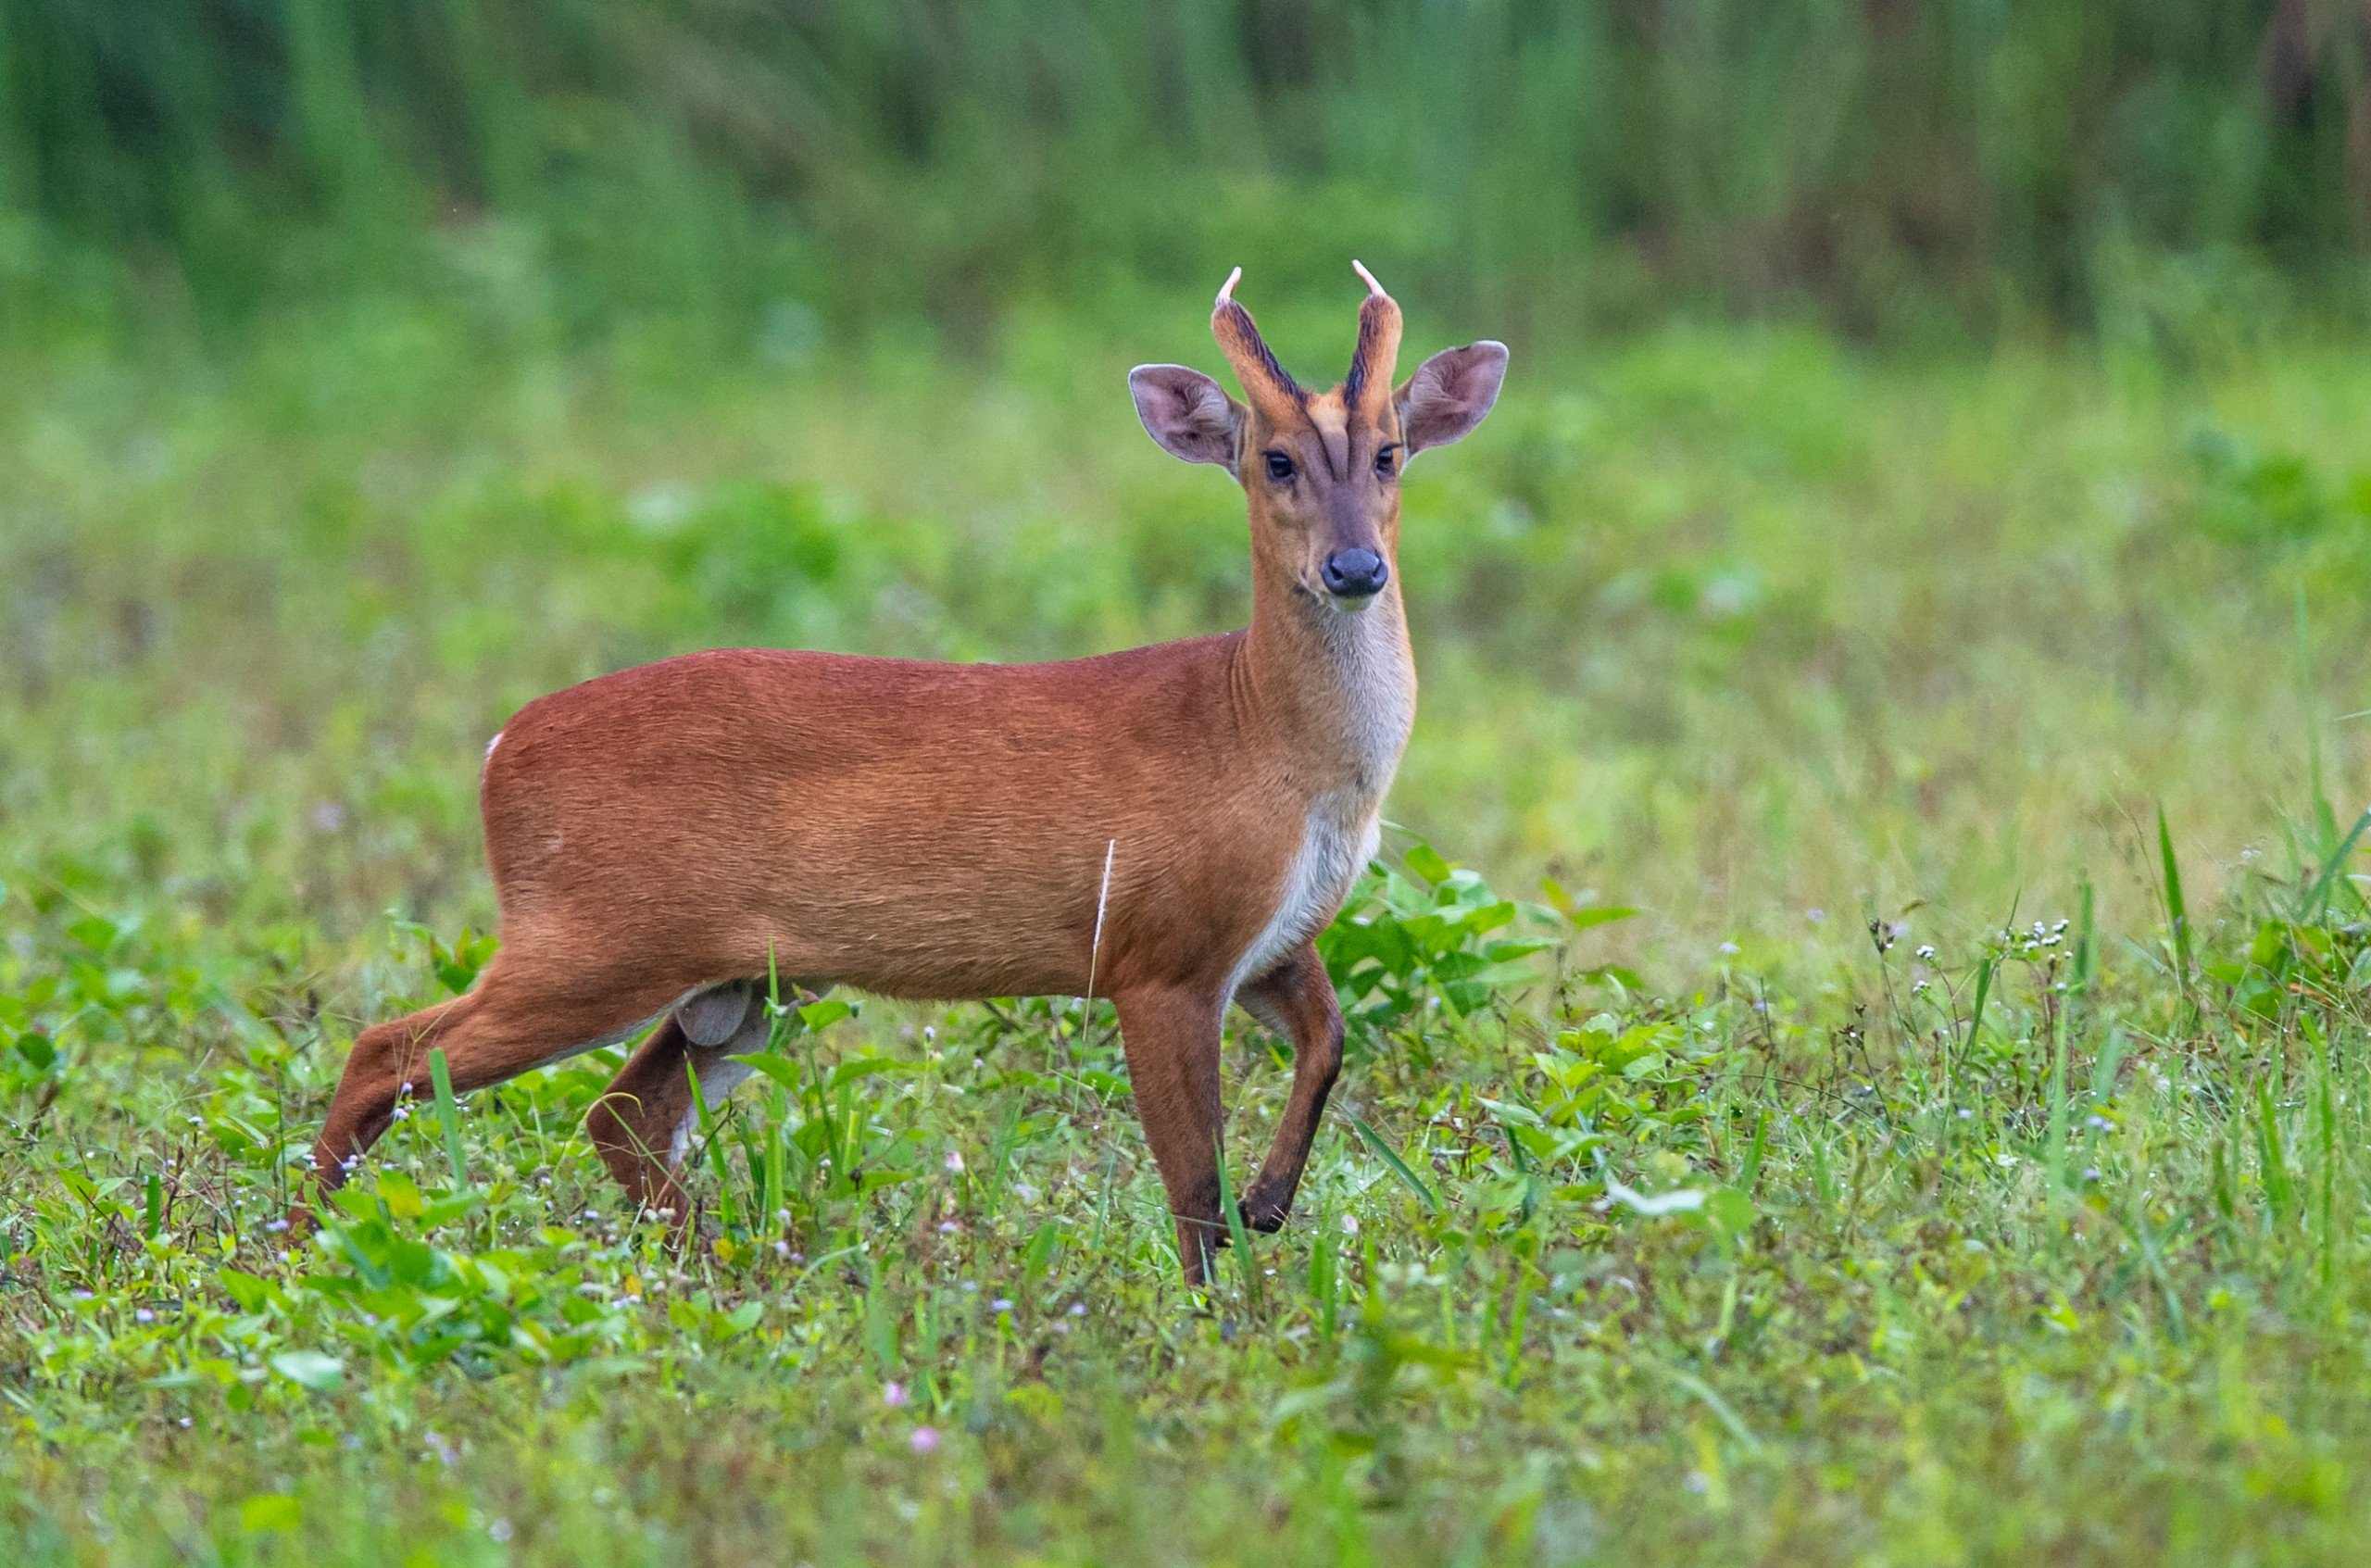
[[[626,1200],[666,1217],[676,1234],[685,1234],[695,1219],[690,1193],[678,1179],[699,1115],[690,1075],[699,1075],[699,1098],[711,1108],[721,1105],[749,1077],[749,1067],[730,1058],[763,1051],[771,1027],[766,1008],[749,1006],[737,1030],[702,1046],[685,1032],[683,1013],[671,1013],[609,1079],[586,1117],[593,1148],[626,1188]]]

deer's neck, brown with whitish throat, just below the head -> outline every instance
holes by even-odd
[[[1309,795],[1380,802],[1415,724],[1415,655],[1397,576],[1366,610],[1347,612],[1257,574],[1245,683]]]

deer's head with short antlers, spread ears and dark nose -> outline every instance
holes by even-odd
[[[1254,569],[1333,610],[1363,610],[1392,581],[1399,470],[1480,425],[1506,377],[1506,344],[1480,342],[1434,353],[1392,387],[1399,304],[1363,266],[1351,268],[1368,294],[1349,375],[1333,391],[1306,391],[1276,363],[1252,313],[1235,304],[1242,268],[1209,318],[1242,403],[1186,365],[1129,372],[1136,415],[1155,441],[1188,463],[1219,463],[1242,484]]]

